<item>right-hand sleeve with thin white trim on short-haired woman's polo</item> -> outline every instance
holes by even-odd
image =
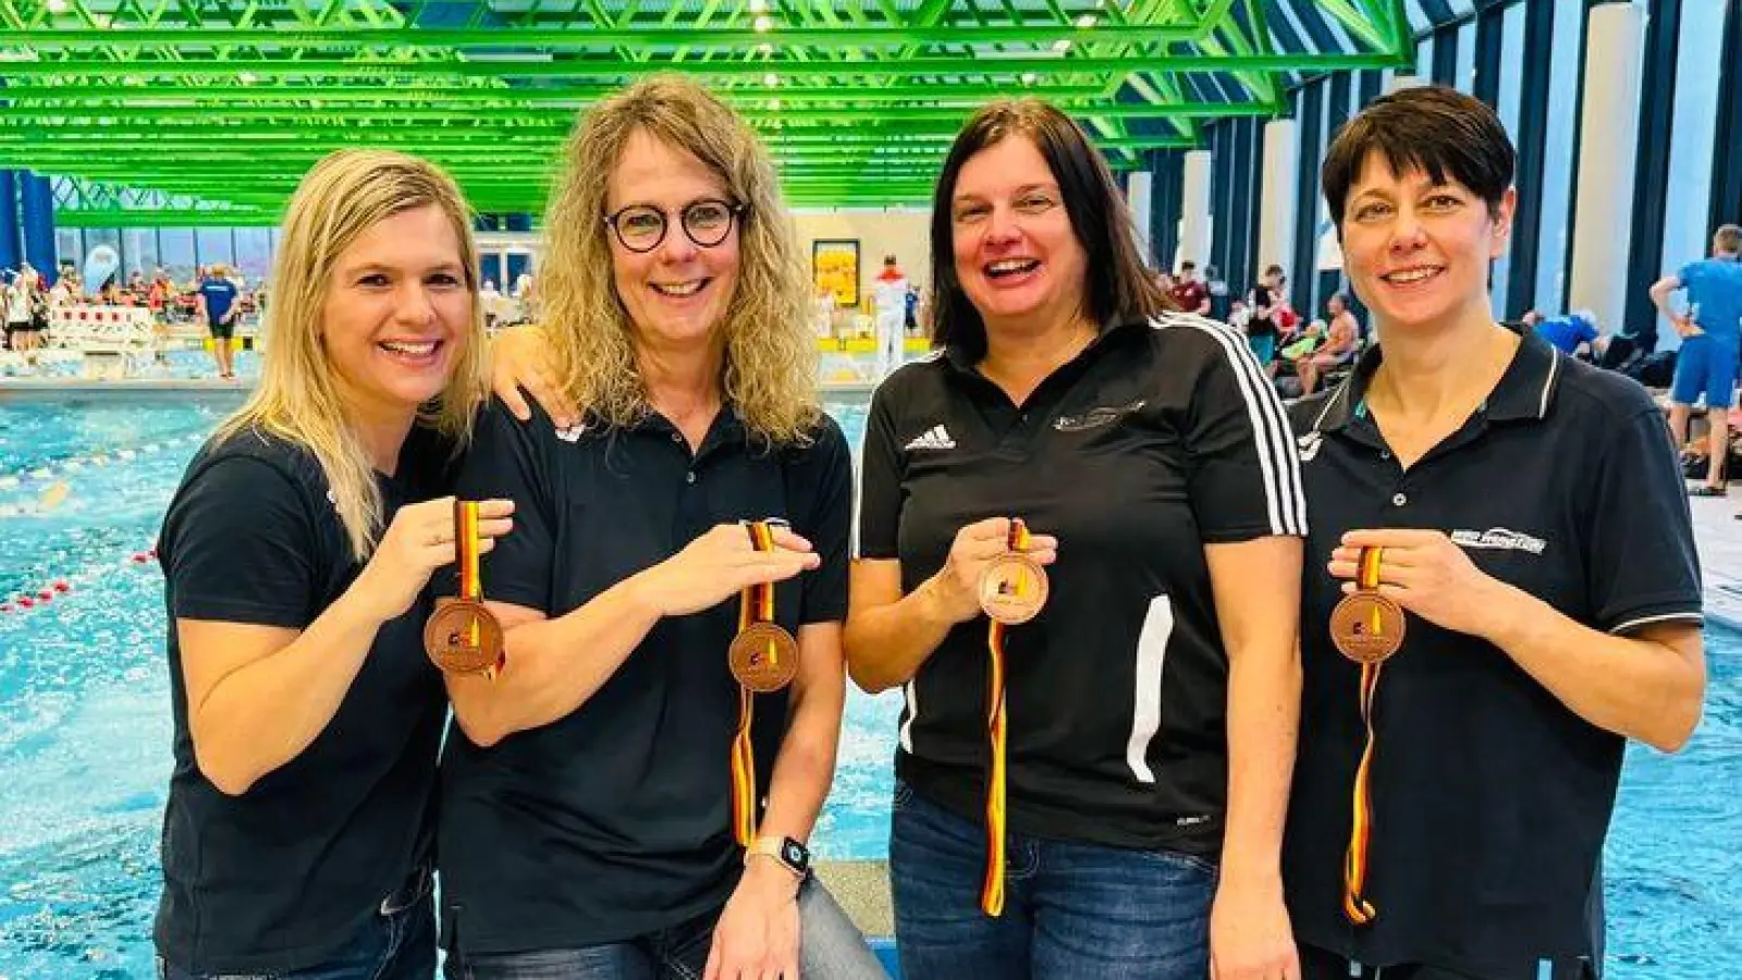
[[[1648,401],[1639,392],[1639,401]],[[1585,582],[1597,630],[1700,623],[1700,556],[1669,427],[1653,405],[1603,432]]]

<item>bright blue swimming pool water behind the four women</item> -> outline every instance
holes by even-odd
[[[0,602],[33,596],[0,612],[0,980],[152,975],[169,682],[162,577],[134,556],[232,405],[0,405]],[[864,401],[831,412],[857,443]],[[1742,971],[1742,633],[1709,640],[1693,743],[1629,750],[1608,849],[1622,980]],[[883,854],[897,711],[850,692],[819,856]]]

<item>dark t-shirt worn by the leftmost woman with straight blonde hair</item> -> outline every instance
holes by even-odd
[[[388,520],[446,493],[451,459],[439,438],[413,429],[399,474],[380,478]],[[301,630],[362,565],[314,455],[253,431],[193,459],[159,556],[176,725],[159,950],[195,973],[322,963],[429,860],[448,703],[423,656],[429,605],[381,626],[333,722],[301,755],[230,797],[193,755],[176,617]]]

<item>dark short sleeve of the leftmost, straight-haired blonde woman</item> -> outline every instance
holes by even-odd
[[[172,614],[308,626],[319,614],[317,530],[294,478],[254,457],[197,473],[164,521]]]

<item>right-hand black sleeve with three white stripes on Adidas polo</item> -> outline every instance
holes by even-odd
[[[1239,335],[1214,340],[1186,413],[1192,513],[1205,544],[1306,534],[1300,457],[1275,387]]]

